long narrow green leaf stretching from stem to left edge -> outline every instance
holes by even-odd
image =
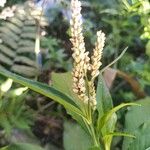
[[[78,106],[76,105],[76,103],[73,102],[73,100],[69,96],[63,94],[62,92],[56,90],[55,88],[49,87],[48,85],[37,82],[37,81],[23,78],[19,75],[11,73],[2,68],[0,68],[0,74],[13,79],[15,82],[19,84],[29,87],[35,92],[38,92],[44,96],[47,96],[53,99],[54,101],[62,104],[66,109],[82,116],[82,113],[80,109],[78,108]]]

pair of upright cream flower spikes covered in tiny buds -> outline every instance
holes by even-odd
[[[72,0],[71,10],[72,18],[70,21],[70,26],[71,42],[73,45],[72,57],[74,59],[74,66],[72,71],[73,91],[84,103],[89,103],[94,108],[96,106],[94,79],[99,75],[99,67],[102,64],[101,56],[104,47],[105,34],[101,31],[97,32],[97,41],[90,60],[88,56],[89,53],[86,52],[85,49],[85,42],[83,37],[81,2],[79,0]],[[91,81],[86,83],[88,72],[90,72]],[[89,91],[87,91],[87,85],[89,86]]]

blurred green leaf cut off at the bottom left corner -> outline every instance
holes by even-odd
[[[44,150],[38,145],[28,144],[28,143],[14,143],[0,150]]]

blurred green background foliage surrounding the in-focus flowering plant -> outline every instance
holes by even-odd
[[[33,15],[33,9],[30,9],[23,0],[8,0],[5,7],[0,8],[1,16],[4,9],[12,8],[16,4],[15,14],[0,20],[0,66],[23,76],[51,84],[51,77],[52,80],[56,80],[54,74],[51,74],[52,71],[65,72],[72,68],[69,41],[69,1],[60,3],[49,0],[47,7],[44,8],[48,25],[43,25],[40,20],[41,51],[39,55],[35,53],[38,27],[38,18],[35,14],[38,13]],[[40,2],[37,2],[36,6],[38,7],[39,4]],[[24,10],[24,14],[18,13],[19,10]],[[119,121],[116,131],[122,130],[137,138],[132,140],[121,137],[114,138],[112,149],[148,149],[150,147],[148,134],[150,2],[148,0],[84,0],[82,14],[85,42],[89,51],[94,45],[96,39],[94,33],[97,30],[102,29],[107,35],[103,67],[119,56],[128,46],[126,54],[112,66],[114,70],[124,72],[126,78],[117,74],[113,80],[111,76],[105,78],[105,80],[111,80],[110,92],[114,105],[122,102],[137,102],[141,99],[136,94],[138,91],[132,91],[132,85],[135,85],[134,81],[138,82],[140,89],[145,93],[143,97],[146,97],[137,102],[142,104],[141,107],[131,107],[127,112],[122,110],[117,113]],[[10,80],[7,82],[6,78],[0,77],[0,87],[7,83],[12,85]],[[128,77],[133,79],[130,84]],[[57,78],[56,74],[55,78]],[[62,82],[61,79],[56,84],[57,86]],[[63,84],[65,83],[67,81],[63,82]],[[19,150],[23,150],[22,147],[24,149],[39,147],[39,150],[42,147],[53,150],[63,148],[77,150],[82,149],[82,144],[87,145],[88,140],[81,144],[75,143],[76,138],[80,137],[79,142],[81,142],[83,137],[85,139],[88,137],[66,114],[62,106],[53,101],[49,102],[44,96],[28,90],[16,95],[15,91],[20,88],[22,87],[13,84],[6,91],[3,91],[2,88],[0,90],[0,146],[6,146],[2,150],[14,147]],[[105,106],[103,107],[105,108]],[[137,116],[138,119],[136,119]],[[79,137],[76,137],[74,133],[78,133]],[[23,139],[19,141],[21,144],[14,142],[17,136]],[[31,145],[28,144],[29,141]],[[25,146],[21,146],[23,143]],[[68,143],[74,143],[79,147],[69,147]]]

